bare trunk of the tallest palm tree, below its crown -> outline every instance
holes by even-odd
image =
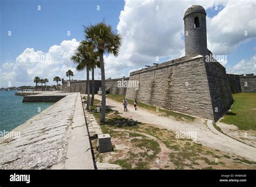
[[[101,74],[102,74],[102,111],[100,112],[100,122],[105,123],[106,87],[105,87],[105,69],[104,69],[103,53],[100,53],[99,61],[100,61],[100,71],[101,71]]]

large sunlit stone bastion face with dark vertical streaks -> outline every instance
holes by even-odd
[[[130,73],[139,89],[128,88],[126,97],[173,111],[213,119],[204,57],[161,63]]]

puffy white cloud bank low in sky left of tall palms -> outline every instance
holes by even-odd
[[[74,72],[76,78],[85,79],[84,73],[76,71],[76,65],[70,60],[78,45],[79,42],[72,39],[51,46],[46,53],[26,48],[15,62],[2,65],[2,86],[6,87],[8,82],[12,85],[33,85],[33,78],[36,76],[48,78],[49,83],[53,84],[54,76],[66,79],[68,69]]]

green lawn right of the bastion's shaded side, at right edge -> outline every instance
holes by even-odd
[[[234,103],[221,122],[236,125],[240,130],[256,130],[256,93],[235,93]]]

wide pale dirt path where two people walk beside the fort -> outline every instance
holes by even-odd
[[[95,98],[101,100],[101,96],[99,95],[95,95]],[[122,117],[131,118],[142,123],[152,124],[176,132],[197,132],[197,140],[195,142],[202,143],[204,146],[219,149],[227,153],[244,156],[254,162],[256,161],[256,148],[234,140],[219,133],[217,130],[215,131],[215,128],[211,125],[211,120],[207,121],[207,125],[205,124],[205,119],[201,118],[197,118],[195,121],[188,123],[186,121],[177,121],[172,117],[159,116],[157,112],[153,113],[140,109],[139,106],[139,110],[135,111],[131,104],[127,106],[129,111],[124,112],[122,103],[118,103],[109,98],[106,99],[106,104],[111,106],[111,109],[117,110]]]

